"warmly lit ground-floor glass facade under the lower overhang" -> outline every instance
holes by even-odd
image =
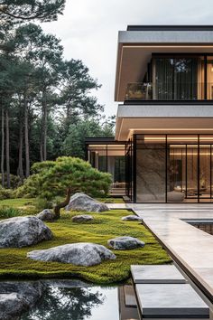
[[[213,136],[135,135],[135,202],[213,202]]]

